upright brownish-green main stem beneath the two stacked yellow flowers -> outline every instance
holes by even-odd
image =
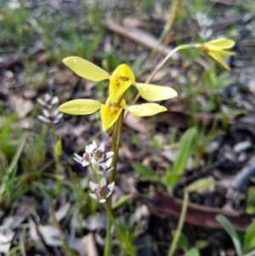
[[[122,135],[123,115],[124,115],[124,111],[122,111],[120,117],[118,118],[118,120],[116,121],[116,123],[113,126],[112,139],[111,139],[111,151],[114,152],[114,155],[113,155],[113,159],[111,162],[111,167],[113,169],[111,170],[111,176],[110,176],[109,183],[115,181],[115,178],[116,178],[116,163],[117,163],[117,159],[118,159],[118,151],[119,151],[120,140],[121,140],[121,135]],[[107,208],[109,209],[109,211],[111,213],[111,196],[109,196],[107,203],[108,203]],[[106,203],[105,203],[105,205],[106,205]],[[106,211],[106,213],[107,213],[107,211]],[[110,213],[107,213],[106,242],[105,242],[104,256],[111,256],[111,242],[112,242],[111,241],[111,224],[112,224],[111,217],[112,217],[112,213],[111,214]]]

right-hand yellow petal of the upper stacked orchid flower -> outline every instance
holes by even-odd
[[[177,96],[177,92],[170,87],[147,83],[135,83],[135,87],[144,100],[167,100]]]

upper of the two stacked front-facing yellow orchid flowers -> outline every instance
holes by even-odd
[[[140,96],[144,100],[167,100],[177,96],[177,92],[173,88],[134,82],[135,77],[133,71],[126,64],[118,65],[116,70],[110,75],[99,66],[80,57],[67,57],[63,62],[78,76],[88,80],[99,82],[109,79],[109,95],[112,104],[121,102],[123,94],[131,85],[134,85],[138,89]]]

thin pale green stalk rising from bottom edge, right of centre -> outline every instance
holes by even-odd
[[[177,243],[178,243],[178,238],[181,234],[181,231],[183,229],[184,226],[184,221],[185,221],[185,216],[187,213],[187,208],[188,208],[188,202],[189,202],[189,194],[188,191],[184,191],[184,201],[183,201],[183,207],[181,210],[181,214],[180,217],[178,219],[178,226],[177,226],[177,230],[173,236],[173,242],[171,243],[171,246],[169,247],[169,251],[167,253],[167,256],[173,256],[173,253],[175,252]]]

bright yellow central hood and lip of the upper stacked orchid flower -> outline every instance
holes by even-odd
[[[133,71],[128,65],[118,65],[110,77],[109,94],[111,95],[111,102],[117,103],[134,80]]]

